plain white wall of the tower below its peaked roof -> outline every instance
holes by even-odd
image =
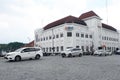
[[[87,23],[89,30],[92,32],[93,35],[93,45],[94,50],[98,49],[99,46],[101,46],[101,19],[93,16],[84,19],[84,21]]]

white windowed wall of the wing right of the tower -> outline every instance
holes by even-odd
[[[119,48],[119,33],[108,29],[102,29],[102,45],[106,50],[114,51]]]

